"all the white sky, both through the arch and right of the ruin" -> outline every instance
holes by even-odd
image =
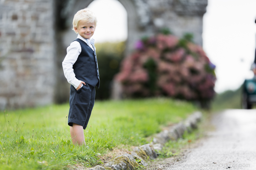
[[[127,12],[118,0],[94,0],[98,17],[95,42],[127,38]],[[203,48],[216,65],[215,91],[237,89],[253,76],[250,66],[256,47],[256,0],[208,0],[204,15]]]

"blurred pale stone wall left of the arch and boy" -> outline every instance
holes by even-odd
[[[0,1],[0,109],[53,102],[53,3]]]

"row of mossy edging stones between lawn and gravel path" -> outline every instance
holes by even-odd
[[[141,165],[147,166],[148,159],[157,158],[157,154],[155,151],[161,151],[163,148],[163,144],[168,142],[169,140],[177,140],[181,138],[184,132],[187,130],[189,133],[192,132],[193,129],[197,128],[197,123],[201,120],[202,113],[194,112],[191,114],[185,121],[182,121],[174,126],[171,126],[164,131],[154,135],[153,142],[142,145],[140,147],[135,147],[131,154],[125,153],[120,156],[116,156],[111,159],[109,162],[104,164],[104,166],[109,169],[115,170],[128,170],[135,169]],[[136,160],[141,160],[137,163]],[[87,170],[106,170],[103,166],[96,165]]]

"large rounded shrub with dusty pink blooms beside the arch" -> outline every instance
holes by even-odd
[[[115,80],[127,97],[165,95],[186,100],[213,98],[215,66],[203,49],[185,38],[158,34],[136,42]]]

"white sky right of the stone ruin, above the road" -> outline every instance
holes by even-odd
[[[203,48],[216,65],[215,91],[237,89],[253,77],[256,47],[255,0],[208,0]]]

